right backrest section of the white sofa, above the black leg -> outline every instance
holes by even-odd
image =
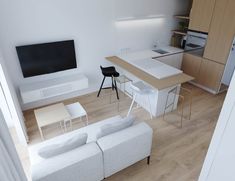
[[[100,138],[105,177],[150,156],[153,130],[142,122]]]

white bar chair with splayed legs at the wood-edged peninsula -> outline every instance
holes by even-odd
[[[135,83],[131,83],[131,89],[133,91],[133,100],[131,103],[131,106],[129,108],[129,111],[127,113],[127,116],[130,115],[131,110],[134,106],[134,103],[136,101],[137,96],[146,96],[148,99],[148,104],[149,104],[149,114],[150,114],[150,118],[152,119],[152,108],[151,108],[151,102],[150,102],[150,95],[154,93],[154,89],[146,84],[144,84],[142,81],[138,81]]]

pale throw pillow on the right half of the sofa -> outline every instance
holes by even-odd
[[[118,132],[125,128],[130,127],[135,121],[134,116],[128,116],[116,123],[105,124],[101,126],[99,133],[97,134],[97,139],[107,136],[109,134]]]

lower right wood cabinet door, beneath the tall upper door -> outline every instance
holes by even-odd
[[[225,66],[202,58],[197,83],[218,92]]]

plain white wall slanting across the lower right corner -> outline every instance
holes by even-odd
[[[235,74],[224,101],[199,181],[235,180]]]

